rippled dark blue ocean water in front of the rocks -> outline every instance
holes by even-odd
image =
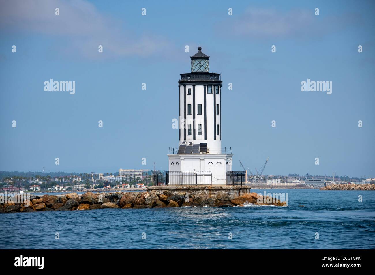
[[[375,248],[374,191],[253,189],[257,193],[263,191],[288,193],[288,207],[1,214],[0,249]],[[362,202],[358,201],[359,195]],[[56,233],[59,239],[55,238]]]

